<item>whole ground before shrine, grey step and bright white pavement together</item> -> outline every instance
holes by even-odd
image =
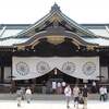
[[[99,101],[98,94],[88,96],[87,109],[108,109],[109,100]],[[21,107],[17,107],[15,94],[0,94],[1,109],[66,109],[64,95],[43,95],[34,94],[31,104],[22,101]],[[75,109],[73,99],[70,102],[70,109]],[[80,105],[82,109],[82,105]]]

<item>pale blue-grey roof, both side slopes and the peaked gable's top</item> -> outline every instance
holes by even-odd
[[[35,24],[1,24],[0,46],[13,46],[15,44],[27,41],[28,37],[21,38],[21,36],[26,36],[26,33],[29,32],[35,33],[35,27],[43,26],[45,22],[55,15],[57,15],[56,17],[60,17],[60,20],[64,20],[71,28],[74,27],[78,32],[84,33],[85,36],[88,36],[88,38],[82,37],[86,43],[98,44],[99,46],[109,46],[109,24],[77,24],[63,14],[57,4],[51,8],[51,11],[48,14]]]

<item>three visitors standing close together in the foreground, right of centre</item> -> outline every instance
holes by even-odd
[[[88,88],[85,84],[83,88],[78,88],[77,85],[71,88],[70,85],[66,85],[64,88],[64,95],[66,97],[66,108],[70,108],[70,101],[73,96],[74,98],[74,108],[78,109],[78,105],[83,105],[83,109],[87,109],[87,95],[88,95]]]

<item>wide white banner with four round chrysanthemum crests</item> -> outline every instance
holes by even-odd
[[[38,77],[55,68],[77,78],[98,80],[99,76],[99,57],[13,57],[12,63],[13,80]]]

